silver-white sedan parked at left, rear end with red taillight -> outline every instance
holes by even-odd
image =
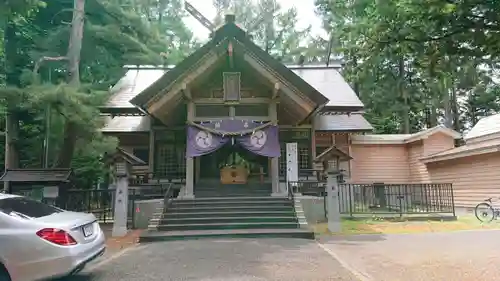
[[[72,275],[105,249],[94,215],[0,193],[0,281]]]

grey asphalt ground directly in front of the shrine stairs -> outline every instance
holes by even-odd
[[[315,241],[191,240],[139,245],[71,281],[356,279]]]

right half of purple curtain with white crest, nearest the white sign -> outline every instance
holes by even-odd
[[[236,141],[246,150],[266,157],[280,157],[278,126],[268,126],[262,130],[240,136]]]

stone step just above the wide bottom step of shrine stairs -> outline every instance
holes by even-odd
[[[200,224],[162,224],[159,231],[215,230],[215,229],[261,229],[261,228],[298,228],[297,222],[247,222],[247,223],[200,223]]]

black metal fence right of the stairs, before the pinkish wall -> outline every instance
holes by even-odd
[[[290,182],[294,193],[324,197],[324,182]],[[453,186],[441,184],[340,184],[339,208],[350,216],[365,214],[453,214]],[[325,198],[326,199],[326,198]],[[326,200],[324,201],[326,206]],[[326,210],[326,207],[325,207]]]

